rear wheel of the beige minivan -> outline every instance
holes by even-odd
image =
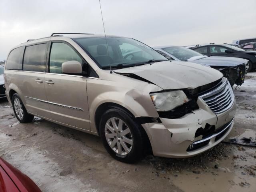
[[[17,93],[12,96],[12,108],[19,122],[28,123],[34,119],[33,115],[28,114],[22,100],[20,99],[20,96]]]

